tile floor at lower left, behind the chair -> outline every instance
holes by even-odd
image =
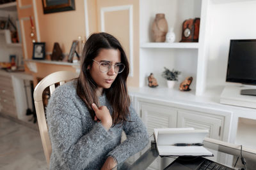
[[[0,169],[47,169],[39,131],[0,116]]]

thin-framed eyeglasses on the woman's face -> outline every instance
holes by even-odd
[[[124,71],[124,64],[118,63],[118,64],[110,64],[109,62],[103,61],[98,62],[97,60],[93,60],[99,64],[100,71],[103,73],[108,72],[111,69],[111,66],[114,66],[115,73],[122,73]]]

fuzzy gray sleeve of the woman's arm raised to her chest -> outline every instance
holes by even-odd
[[[97,123],[83,135],[81,114],[74,94],[65,87],[57,88],[47,106],[47,124],[54,157],[65,169],[84,169],[102,152],[105,142],[113,137],[102,124]],[[54,167],[55,162],[51,162]],[[50,166],[51,169],[51,166]]]

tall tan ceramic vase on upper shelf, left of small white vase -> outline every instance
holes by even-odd
[[[168,24],[164,17],[164,13],[157,13],[152,24],[152,33],[154,42],[164,42],[166,33],[168,32]]]

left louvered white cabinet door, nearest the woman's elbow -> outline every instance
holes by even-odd
[[[147,126],[148,135],[152,135],[154,128],[176,127],[177,110],[169,106],[151,103],[141,103],[141,118]]]

